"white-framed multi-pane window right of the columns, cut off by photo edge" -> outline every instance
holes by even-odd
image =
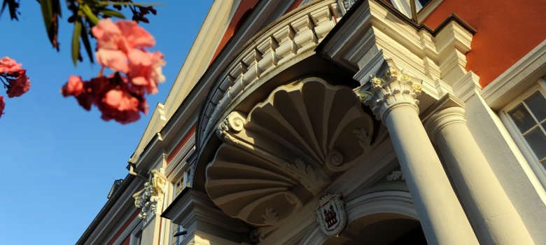
[[[542,184],[546,184],[546,81],[538,80],[500,111],[507,130]]]

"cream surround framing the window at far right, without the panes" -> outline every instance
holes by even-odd
[[[514,120],[512,120],[512,117],[510,117],[510,115],[508,114],[509,111],[516,108],[516,106],[519,106],[521,102],[531,97],[531,95],[533,95],[535,92],[540,92],[540,94],[542,94],[542,96],[546,98],[545,78],[539,78],[535,85],[529,87],[526,92],[519,94],[519,96],[516,97],[512,102],[504,106],[503,109],[500,109],[500,111],[498,111],[498,116],[505,125],[506,130],[514,140],[517,148],[519,148],[521,155],[524,156],[529,167],[531,167],[531,170],[533,170],[533,172],[535,173],[538,181],[540,181],[543,188],[546,188],[546,167],[542,166],[540,160],[531,149],[531,146],[529,146],[523,134],[519,131],[516,123],[514,123]]]

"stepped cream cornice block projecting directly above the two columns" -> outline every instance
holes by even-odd
[[[433,31],[393,13],[384,1],[356,1],[316,51],[355,71],[353,78],[360,84],[392,60],[422,81],[427,99],[421,108],[426,108],[433,99],[457,90],[456,81],[467,72],[465,53],[475,31],[456,15]]]

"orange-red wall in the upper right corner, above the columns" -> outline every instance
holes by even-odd
[[[424,23],[436,29],[451,13],[477,31],[466,69],[482,87],[546,39],[545,0],[444,0]]]

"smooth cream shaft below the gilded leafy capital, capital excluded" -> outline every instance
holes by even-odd
[[[478,244],[414,106],[384,117],[429,244]]]

